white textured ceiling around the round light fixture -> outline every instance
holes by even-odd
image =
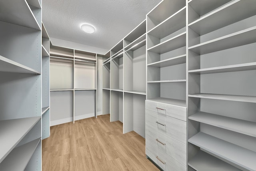
[[[52,44],[66,42],[66,46],[79,45],[81,50],[106,54],[160,1],[42,0],[42,20]],[[84,23],[92,24],[96,32],[83,32],[80,26]]]

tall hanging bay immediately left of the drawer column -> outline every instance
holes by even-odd
[[[124,38],[123,133],[145,138],[146,20]]]

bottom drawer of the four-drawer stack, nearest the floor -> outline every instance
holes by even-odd
[[[186,171],[186,167],[146,140],[146,155],[164,171]]]

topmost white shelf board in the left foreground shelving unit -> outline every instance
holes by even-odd
[[[1,8],[1,21],[41,30],[26,0],[2,0]]]

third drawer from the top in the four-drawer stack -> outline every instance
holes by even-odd
[[[186,166],[186,144],[146,125],[146,140]]]

